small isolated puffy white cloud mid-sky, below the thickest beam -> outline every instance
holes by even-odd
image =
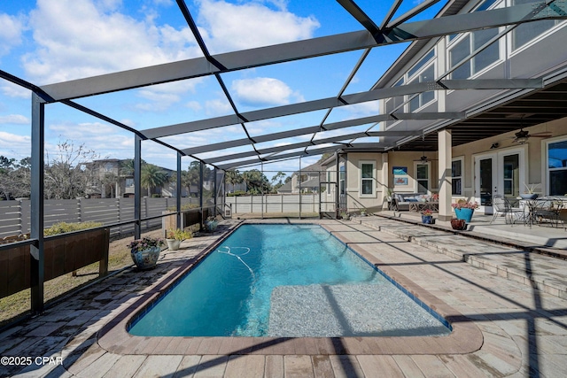
[[[247,105],[283,105],[290,103],[293,91],[283,81],[258,77],[232,81],[237,98]]]

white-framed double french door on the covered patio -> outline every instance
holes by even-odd
[[[524,184],[524,149],[502,150],[475,156],[475,200],[480,212],[493,213],[493,196],[515,201]]]

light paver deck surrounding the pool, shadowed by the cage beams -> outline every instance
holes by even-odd
[[[129,336],[124,328],[129,317],[214,243],[218,232],[193,238],[180,251],[164,251],[150,272],[124,270],[5,330],[0,356],[61,357],[63,365],[0,366],[0,376],[567,375],[567,261],[367,218],[300,222],[322,224],[448,315],[452,336],[272,338],[262,343],[246,337]],[[227,221],[223,229],[236,225]],[[401,238],[408,236],[409,241]]]

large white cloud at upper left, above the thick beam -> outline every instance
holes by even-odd
[[[24,68],[51,83],[196,57],[189,27],[156,26],[115,11],[118,3],[38,0],[31,12],[35,51]]]

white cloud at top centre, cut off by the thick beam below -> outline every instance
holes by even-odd
[[[311,38],[319,21],[299,17],[283,9],[282,1],[270,2],[272,10],[260,3],[230,4],[201,0],[198,20],[201,33],[212,53],[243,50],[275,43]]]

